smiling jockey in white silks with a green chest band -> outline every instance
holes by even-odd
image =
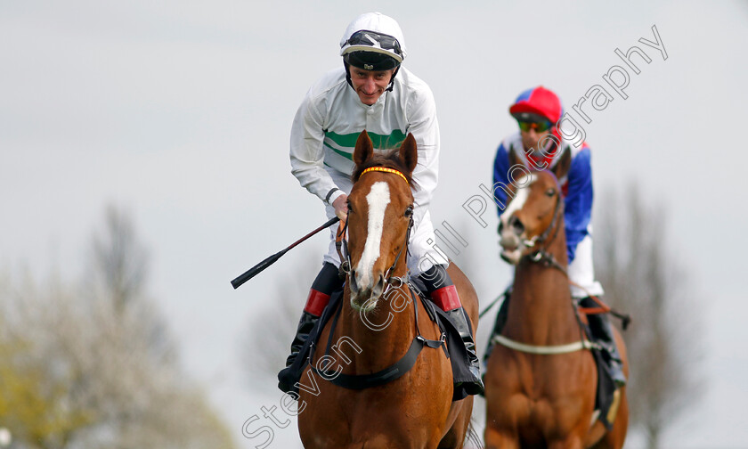
[[[343,67],[329,71],[317,81],[297,110],[291,128],[291,173],[324,203],[329,218],[346,220],[358,135],[365,129],[375,151],[386,151],[413,134],[419,153],[413,180],[419,189],[413,192],[414,225],[408,268],[411,274],[419,275],[431,299],[450,314],[458,328],[475,378],[465,387],[468,394],[478,394],[483,391],[483,383],[469,319],[447,274],[449,260],[428,245],[435,241],[428,208],[439,172],[434,95],[426,83],[401,67],[406,54],[402,30],[394,19],[368,12],[348,25],[340,40]],[[336,231],[337,225],[330,227],[329,250],[306,299],[287,366],[296,359],[330,295],[342,287]],[[286,391],[289,386],[279,388]]]

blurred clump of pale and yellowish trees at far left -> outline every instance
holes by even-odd
[[[147,253],[110,208],[82,286],[0,278],[0,423],[17,448],[232,448],[145,296]]]

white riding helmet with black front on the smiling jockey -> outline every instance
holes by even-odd
[[[340,39],[340,55],[359,69],[395,69],[406,55],[402,29],[391,17],[366,12],[348,24]]]

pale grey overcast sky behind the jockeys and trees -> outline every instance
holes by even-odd
[[[667,209],[671,245],[700,292],[710,389],[665,446],[744,447],[748,6],[650,3],[5,1],[0,268],[56,267],[75,279],[105,205],[126,208],[150,246],[151,292],[185,365],[253,447],[241,424],[280,392],[272,378],[255,381],[264,395],[243,383],[242,327],[272,307],[276,283],[309,252],[289,253],[240,290],[229,281],[324,221],[289,173],[289,127],[306,89],[341,64],[347,22],[392,15],[404,64],[434,91],[442,169],[432,216],[469,242],[465,263],[476,266],[484,301],[509,268],[497,257],[493,211],[484,229],[461,205],[491,182],[495,148],[515,129],[508,104],[543,84],[570,110],[590,87],[609,87],[602,76],[623,65],[616,48],[638,45],[652,61],[635,59],[629,98],[614,94],[583,125],[595,186],[636,182]],[[654,40],[653,25],[666,61],[638,42]],[[307,246],[321,257],[325,244],[320,236]],[[272,447],[289,447],[296,429],[277,437]]]

